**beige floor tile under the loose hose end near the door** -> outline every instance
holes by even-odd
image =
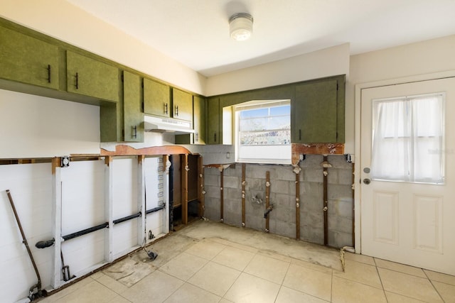
[[[333,270],[333,275],[373,287],[382,288],[378,270],[376,270],[376,267],[373,265],[346,260],[345,271],[340,272],[338,270]]]

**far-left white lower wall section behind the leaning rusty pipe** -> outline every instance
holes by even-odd
[[[35,243],[52,238],[52,175],[50,163],[0,165],[0,292],[2,302],[16,302],[29,295],[37,282],[26,246],[14,217],[6,189],[10,190],[28,246],[44,287],[50,285],[52,248]]]

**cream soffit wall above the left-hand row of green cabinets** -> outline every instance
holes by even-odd
[[[205,77],[66,1],[1,0],[0,16],[176,87],[204,93]]]

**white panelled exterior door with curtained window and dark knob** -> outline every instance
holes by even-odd
[[[380,111],[377,104],[396,97],[433,93],[445,95],[445,126],[441,127],[445,130],[445,143],[440,145],[441,148],[420,150],[419,155],[411,155],[412,160],[406,160],[414,163],[414,168],[409,170],[426,170],[435,156],[442,155],[443,167],[439,170],[443,176],[442,183],[390,180],[395,177],[384,175],[376,177],[377,172],[385,169],[387,165],[392,165],[392,175],[402,170],[401,165],[396,162],[400,148],[395,146],[382,152],[376,150],[379,144],[383,144],[382,147],[387,145],[389,138],[383,137],[386,139],[381,141],[382,143],[374,141],[376,145],[374,150],[372,148],[373,131],[378,135],[378,130],[375,129],[378,126],[373,126],[373,122],[380,120],[378,116],[374,116]],[[407,112],[406,109],[405,111]],[[432,120],[431,117],[418,118],[419,123]],[[435,79],[362,89],[360,123],[361,252],[364,255],[455,275],[455,79]],[[392,126],[392,123],[388,124],[387,127]],[[429,136],[429,140],[435,138],[428,133],[425,136]],[[399,137],[405,138],[406,135],[396,138]],[[416,138],[418,141],[423,137]],[[378,165],[378,153],[388,153],[390,161],[383,161],[382,165]]]

